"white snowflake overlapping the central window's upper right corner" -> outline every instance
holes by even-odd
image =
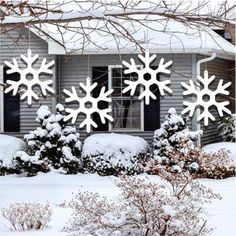
[[[149,50],[145,51],[145,56],[142,56],[141,54],[138,55],[139,59],[144,63],[143,68],[138,68],[135,64],[135,61],[133,58],[130,59],[130,63],[127,63],[126,61],[123,61],[123,65],[126,66],[128,69],[124,71],[125,74],[130,73],[137,73],[138,79],[137,81],[132,80],[125,80],[124,83],[128,86],[122,91],[122,93],[126,93],[130,90],[130,95],[133,96],[135,93],[135,90],[138,86],[142,86],[144,89],[141,91],[139,95],[139,99],[145,98],[145,104],[150,103],[150,97],[155,100],[157,97],[155,94],[151,91],[150,87],[152,85],[157,85],[160,94],[163,96],[165,94],[164,91],[167,91],[169,93],[172,93],[172,90],[167,87],[168,84],[170,84],[170,80],[164,80],[164,81],[158,81],[157,80],[157,74],[164,73],[164,74],[170,74],[170,70],[167,69],[171,64],[172,61],[168,61],[164,64],[164,58],[162,58],[159,62],[159,66],[157,69],[152,69],[150,67],[151,63],[156,59],[156,54],[153,54],[152,56],[149,55]],[[145,80],[144,76],[145,74],[150,75],[149,80]]]

